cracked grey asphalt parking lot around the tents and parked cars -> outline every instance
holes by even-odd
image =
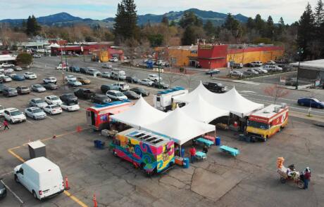
[[[23,111],[32,98],[73,91],[74,88],[61,83],[62,74],[54,69],[58,61],[56,57],[41,58],[29,69],[37,74],[36,80],[8,83],[13,87],[30,86],[39,84],[46,76],[56,76],[58,90],[13,98],[1,95],[1,105]],[[69,65],[80,64],[82,58],[69,58],[68,62]],[[84,65],[99,66],[94,62]],[[140,79],[147,78],[147,72],[126,71],[127,75],[133,73]],[[197,74],[195,79],[200,76]],[[168,79],[168,74],[163,74],[163,78]],[[97,93],[100,93],[101,84],[116,82],[90,79],[92,84],[86,88]],[[191,87],[198,83],[194,81]],[[143,87],[150,91],[151,95],[145,99],[152,104],[152,94],[157,89]],[[175,166],[166,173],[147,178],[131,163],[113,156],[108,149],[110,140],[88,128],[85,109],[90,105],[89,101],[80,100],[77,112],[63,112],[39,121],[27,118],[24,123],[10,125],[9,131],[0,131],[0,177],[11,189],[6,199],[0,201],[0,206],[93,206],[94,194],[99,206],[323,206],[323,128],[311,122],[292,117],[287,128],[267,142],[242,142],[232,131],[218,131],[224,145],[241,151],[237,158],[222,154],[213,146],[206,161],[191,164],[188,169]],[[48,158],[60,166],[63,177],[67,176],[70,190],[64,194],[37,201],[13,180],[13,168],[29,159],[26,143],[33,140],[44,142]],[[94,140],[106,142],[107,147],[94,148]],[[189,144],[185,148],[189,156]],[[298,189],[294,183],[280,183],[275,166],[278,156],[285,157],[286,166],[294,163],[298,170],[306,166],[312,169],[309,190]]]

